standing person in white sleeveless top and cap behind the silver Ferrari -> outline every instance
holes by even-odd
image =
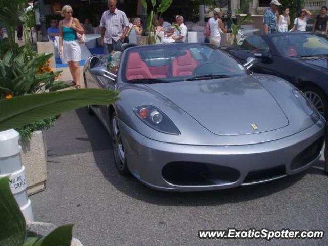
[[[213,17],[208,20],[208,26],[210,28],[210,43],[220,47],[221,32],[227,32],[224,28],[222,20],[220,19],[221,10],[216,8],[213,10]]]

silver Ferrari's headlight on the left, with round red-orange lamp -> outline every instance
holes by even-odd
[[[154,106],[137,106],[133,109],[133,112],[139,119],[141,119],[141,121],[145,122],[149,127],[156,131],[172,135],[181,134],[169,117]]]

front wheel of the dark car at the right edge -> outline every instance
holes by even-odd
[[[328,105],[327,105],[327,99],[326,96],[323,92],[321,92],[319,89],[316,87],[305,87],[302,89],[306,97],[309,98],[311,103],[316,107],[318,112],[325,118],[328,118]]]

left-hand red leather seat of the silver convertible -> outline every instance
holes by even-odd
[[[130,54],[127,62],[126,71],[127,80],[153,78],[145,61],[141,60],[139,53],[133,52]]]

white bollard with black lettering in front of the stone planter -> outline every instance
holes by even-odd
[[[19,133],[14,129],[0,132],[0,178],[9,176],[9,185],[26,221],[34,221],[31,200],[27,196],[25,166],[20,160]]]

